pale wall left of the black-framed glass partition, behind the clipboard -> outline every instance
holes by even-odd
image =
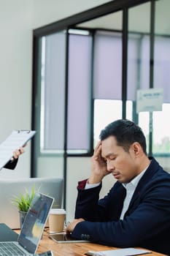
[[[0,141],[12,129],[31,127],[32,1],[0,0]],[[15,171],[0,178],[29,176],[30,146]]]

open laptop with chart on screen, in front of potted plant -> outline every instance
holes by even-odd
[[[18,241],[1,241],[0,255],[34,255],[53,201],[53,197],[36,192],[20,230]],[[11,249],[8,249],[9,247]]]

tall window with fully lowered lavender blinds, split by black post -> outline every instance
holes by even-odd
[[[92,42],[89,33],[73,32],[69,31],[67,105],[66,31],[42,37],[40,148],[45,154],[63,152],[65,108],[68,152],[87,153],[90,148]]]

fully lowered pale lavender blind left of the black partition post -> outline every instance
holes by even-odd
[[[44,149],[63,150],[66,34],[45,37],[45,71],[42,83],[41,132]]]

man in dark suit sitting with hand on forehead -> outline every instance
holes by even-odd
[[[117,120],[101,131],[88,180],[78,184],[74,238],[108,246],[140,246],[170,255],[170,175],[148,158],[142,129]],[[101,181],[117,179],[98,200]]]

